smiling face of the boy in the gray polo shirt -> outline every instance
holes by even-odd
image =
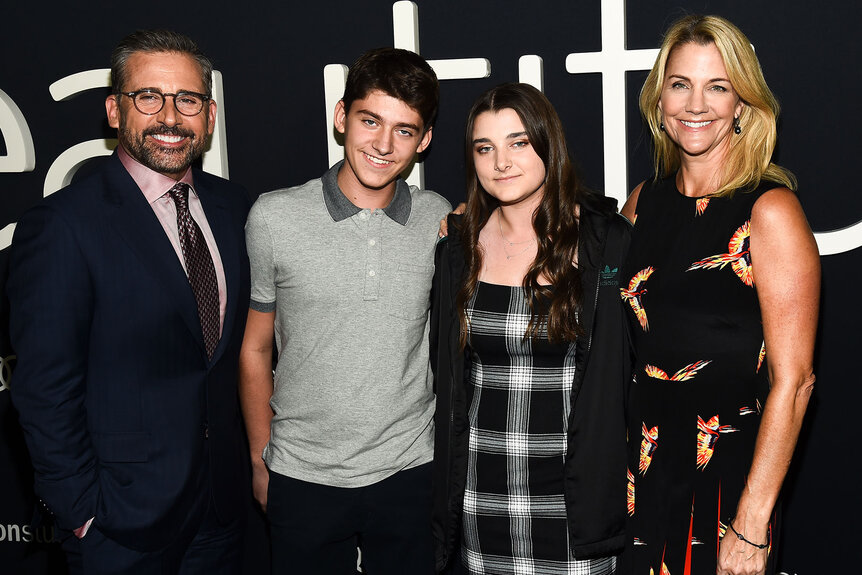
[[[386,92],[354,100],[349,113],[339,101],[335,129],[344,134],[345,161],[338,175],[342,192],[354,203],[357,197],[389,194],[388,204],[398,175],[431,143],[431,130],[424,128],[419,112]]]

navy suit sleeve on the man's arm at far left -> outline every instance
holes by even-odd
[[[87,430],[87,341],[94,302],[86,260],[56,207],[18,222],[7,291],[17,355],[10,386],[35,471],[35,490],[57,525],[95,515],[96,456]]]

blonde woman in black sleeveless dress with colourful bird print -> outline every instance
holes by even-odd
[[[771,161],[778,105],[738,28],[687,16],[640,106],[656,173],[623,209],[637,354],[625,572],[772,572],[820,289],[795,180]]]

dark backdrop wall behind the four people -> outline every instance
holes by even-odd
[[[70,3],[71,4],[71,3]],[[49,6],[6,0],[0,14],[0,90],[14,101],[32,135],[35,167],[3,172],[0,164],[0,230],[40,200],[48,168],[60,154],[87,140],[113,137],[104,113],[105,89],[54,101],[48,87],[77,72],[106,68],[116,42],[137,28],[170,27],[198,40],[221,71],[230,177],[257,194],[319,176],[328,166],[323,68],[349,64],[362,51],[393,44],[392,2],[122,3]],[[463,123],[484,89],[518,80],[518,59],[543,59],[544,90],[557,106],[572,152],[589,186],[604,190],[606,170],[624,173],[624,195],[650,175],[648,134],[637,111],[642,70],[625,74],[625,102],[603,108],[601,72],[571,74],[571,53],[620,49],[610,38],[623,31],[627,50],[655,49],[662,30],[686,12],[715,13],[739,25],[760,57],[766,79],[783,106],[777,152],[799,178],[800,199],[815,232],[862,220],[856,190],[860,157],[855,109],[862,93],[860,9],[856,3],[749,0],[419,0],[420,53],[431,60],[486,58],[490,76],[442,82],[440,118],[424,157],[426,187],[457,202],[463,197]],[[834,5],[833,5],[834,4]],[[602,15],[605,15],[603,25]],[[622,17],[611,19],[609,15]],[[624,18],[623,18],[624,17]],[[612,20],[612,21],[611,21]],[[604,26],[604,27],[603,27]],[[616,58],[616,59],[615,59]],[[609,71],[619,56],[599,59]],[[2,104],[2,102],[0,102]],[[6,114],[8,117],[8,113]],[[0,114],[0,118],[2,118]],[[622,152],[604,157],[608,126],[623,122]],[[0,125],[0,156],[16,155],[11,124]],[[624,153],[623,153],[624,152]],[[0,158],[2,161],[3,158]],[[17,169],[15,169],[17,170]],[[9,228],[6,228],[7,231]],[[862,535],[852,519],[862,466],[853,452],[862,400],[851,343],[858,342],[858,285],[862,282],[862,231],[828,244],[824,255],[818,375],[809,414],[784,490],[785,514],[779,565],[788,574],[858,570]],[[0,232],[0,238],[3,237]],[[0,241],[0,289],[5,284],[8,242]],[[50,528],[32,524],[31,471],[7,386],[14,351],[0,298],[0,570],[62,573]],[[252,531],[248,571],[265,573],[266,534],[249,511]]]

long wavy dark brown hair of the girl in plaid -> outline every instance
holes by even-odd
[[[578,249],[576,207],[582,193],[580,181],[569,159],[560,118],[542,92],[529,84],[502,84],[479,96],[467,116],[467,209],[460,226],[464,245],[464,284],[458,292],[461,345],[466,345],[469,320],[466,306],[476,291],[482,269],[479,231],[488,222],[499,202],[486,192],[476,176],[473,162],[473,124],[483,112],[511,109],[518,114],[530,145],[545,165],[545,189],[533,213],[538,251],[524,276],[523,288],[530,305],[530,323],[525,338],[535,338],[547,324],[552,342],[574,341],[582,333],[578,325],[582,299],[580,273],[573,265]],[[544,275],[553,290],[539,284]]]

